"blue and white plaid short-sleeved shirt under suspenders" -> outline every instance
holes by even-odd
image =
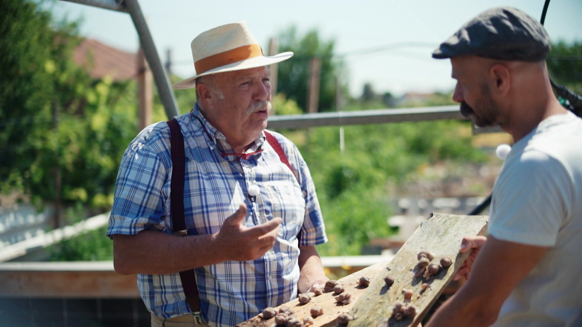
[[[233,326],[265,307],[292,300],[299,280],[297,234],[301,230],[301,246],[327,241],[315,187],[299,151],[287,138],[271,132],[296,177],[265,141],[264,133],[246,153],[260,149],[263,152],[246,159],[222,158],[221,153],[235,151],[197,107],[176,119],[184,136],[184,216],[189,234],[218,232],[242,202],[248,208],[246,226],[274,217],[283,219],[274,248],[261,258],[195,269],[202,318],[211,326]],[[115,184],[109,237],[137,234],[145,229],[172,234],[169,139],[168,125],[157,123],[141,131],[127,148]],[[247,196],[252,184],[260,190],[255,202]],[[179,273],[139,274],[137,284],[148,310],[158,317],[189,313]]]

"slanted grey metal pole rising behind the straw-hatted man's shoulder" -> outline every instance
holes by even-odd
[[[154,74],[155,86],[158,88],[159,98],[164,104],[166,116],[172,119],[178,116],[178,105],[176,98],[170,87],[168,77],[164,72],[164,66],[159,59],[158,51],[155,49],[154,39],[151,37],[150,29],[147,27],[143,13],[137,0],[123,1],[125,9],[132,16],[133,24],[136,26],[137,35],[140,37],[141,48],[143,48],[145,59],[150,64],[151,72]]]

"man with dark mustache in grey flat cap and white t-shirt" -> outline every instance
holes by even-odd
[[[540,23],[496,8],[432,54],[450,58],[464,115],[501,126],[515,144],[487,239],[463,240],[461,252],[473,253],[455,278],[469,279],[428,326],[582,326],[582,120],[552,92],[549,48]]]

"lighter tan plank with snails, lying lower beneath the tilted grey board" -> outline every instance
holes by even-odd
[[[315,322],[314,327],[335,326],[335,318],[338,317],[338,314],[340,312],[347,312],[354,305],[357,298],[359,298],[365,291],[365,289],[357,286],[357,280],[359,280],[361,276],[367,276],[370,279],[374,278],[375,276],[384,276],[387,264],[388,262],[379,262],[378,264],[371,265],[362,269],[361,271],[338,280],[338,282],[345,287],[346,292],[352,294],[353,301],[350,304],[341,305],[336,303],[333,297],[337,294],[334,294],[333,292],[327,292],[317,297],[311,297],[311,301],[307,304],[300,304],[299,300],[295,299],[289,301],[288,303],[282,304],[279,307],[286,306],[291,308],[296,313],[296,317],[299,319],[303,319],[303,317],[310,315],[311,307],[317,306],[323,308],[324,314],[313,319]],[[276,309],[278,310],[279,307]],[[274,318],[261,319],[258,317],[253,317],[237,326],[270,327],[274,323]]]

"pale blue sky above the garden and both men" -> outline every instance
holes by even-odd
[[[194,75],[190,41],[220,24],[245,20],[264,49],[278,31],[295,24],[300,32],[316,28],[336,40],[336,53],[413,42],[419,47],[345,57],[350,92],[361,94],[370,82],[378,92],[449,91],[448,60],[432,59],[433,48],[471,17],[495,6],[514,6],[540,19],[544,0],[293,0],[194,1],[140,0],[161,58],[171,48],[175,73]],[[57,1],[49,7],[56,17],[82,17],[81,34],[126,51],[136,52],[137,33],[125,13]],[[582,41],[582,1],[553,0],[545,27],[552,40]],[[179,65],[178,65],[179,64]]]

